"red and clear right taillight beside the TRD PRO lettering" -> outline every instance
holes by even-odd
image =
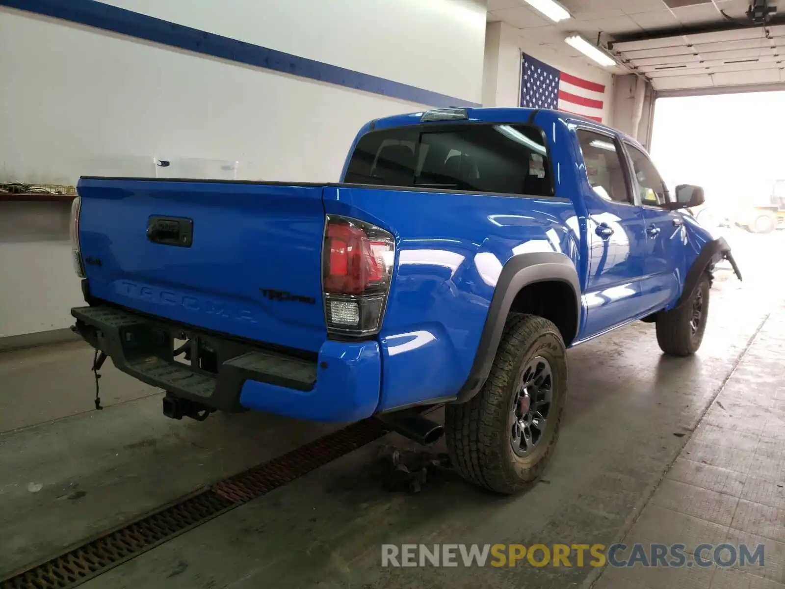
[[[330,214],[322,255],[327,331],[378,332],[392,278],[395,239],[370,223]]]

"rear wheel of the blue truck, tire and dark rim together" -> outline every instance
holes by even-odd
[[[495,492],[526,488],[553,454],[566,395],[558,328],[534,315],[509,319],[480,392],[445,409],[447,449],[458,473]]]

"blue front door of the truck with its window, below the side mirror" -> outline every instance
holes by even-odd
[[[633,185],[641,201],[646,232],[646,261],[641,305],[655,312],[675,302],[685,280],[686,229],[681,213],[668,210],[670,195],[652,160],[625,142]]]

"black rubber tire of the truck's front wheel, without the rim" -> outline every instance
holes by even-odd
[[[706,331],[709,316],[709,292],[709,276],[704,273],[688,300],[675,309],[657,314],[659,349],[669,356],[678,357],[692,356],[698,351],[701,342],[703,342],[703,333]],[[702,317],[698,329],[692,331],[690,321],[692,320],[693,303],[698,295],[703,297]]]

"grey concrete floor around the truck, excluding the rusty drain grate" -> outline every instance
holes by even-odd
[[[757,255],[782,251],[783,238],[728,237],[745,282],[718,271],[696,357],[663,357],[642,323],[571,350],[559,448],[524,495],[491,496],[449,474],[417,495],[385,492],[370,466],[379,444],[411,446],[390,436],[84,587],[785,589],[785,307]],[[91,358],[79,344],[0,355],[0,578],[330,429],[260,414],[174,422],[160,415],[159,393],[111,368],[107,408],[91,411]],[[758,536],[766,566],[750,572],[380,566],[382,543],[695,546]]]

